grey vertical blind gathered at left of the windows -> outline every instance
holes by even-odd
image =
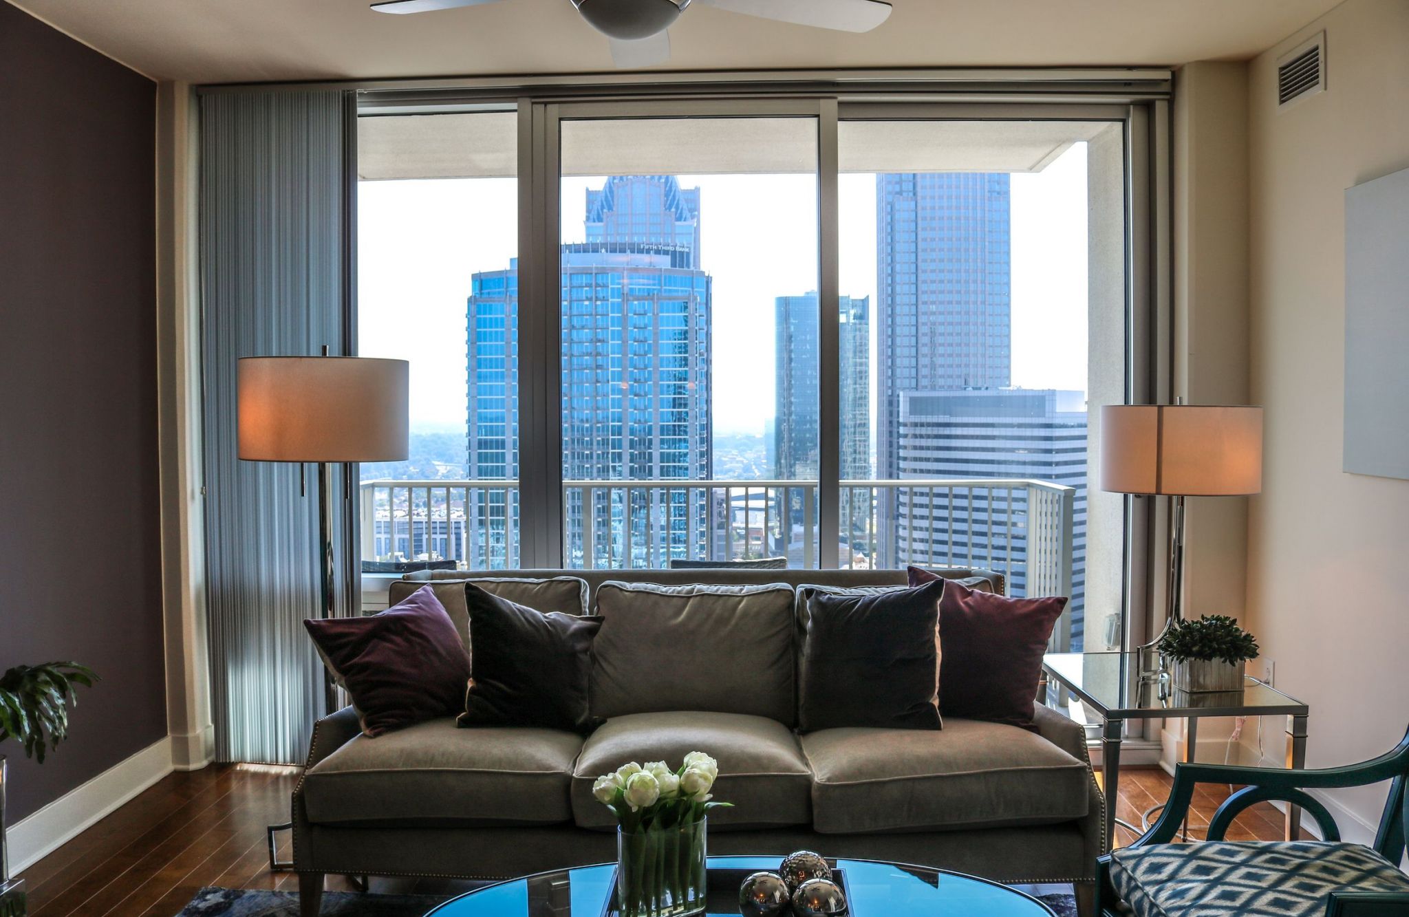
[[[217,761],[296,763],[323,710],[303,628],[318,614],[317,468],[235,452],[241,356],[349,354],[344,220],[351,156],[340,90],[200,99],[206,578]],[[356,544],[334,466],[337,606]]]

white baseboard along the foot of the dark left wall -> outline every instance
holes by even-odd
[[[10,825],[10,871],[24,872],[172,772],[166,737]]]

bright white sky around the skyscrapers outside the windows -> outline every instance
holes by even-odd
[[[759,327],[757,317],[772,311],[775,296],[817,286],[816,180],[807,175],[676,177],[697,186],[710,201],[702,245],[716,280],[714,328],[728,344],[716,348],[714,363],[730,380],[757,380],[759,362],[771,362],[774,354],[771,323]],[[562,180],[564,241],[585,241],[585,190],[603,180]],[[871,294],[874,306],[875,176],[843,175],[838,190],[841,290]],[[786,231],[758,220],[761,208],[785,214]],[[503,269],[517,256],[517,182],[364,182],[359,211],[361,352],[411,361],[413,430],[464,432],[465,297],[475,272]],[[1012,175],[1012,382],[1084,390],[1085,144],[1074,144],[1040,173]],[[759,251],[774,258],[762,261]],[[447,323],[457,328],[454,334],[409,337],[404,331]],[[716,434],[762,437],[775,406],[772,373],[761,385],[762,392],[720,383]]]

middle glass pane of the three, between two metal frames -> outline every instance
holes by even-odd
[[[816,121],[565,121],[561,163],[566,563],[816,566]]]

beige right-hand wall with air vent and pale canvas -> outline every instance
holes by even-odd
[[[1327,90],[1278,113],[1277,58],[1323,28]],[[1267,408],[1248,621],[1278,686],[1310,704],[1309,762],[1339,765],[1409,723],[1409,482],[1341,472],[1344,190],[1409,168],[1409,3],[1347,0],[1248,77],[1251,396]],[[1333,811],[1347,830],[1382,800],[1346,790]]]

